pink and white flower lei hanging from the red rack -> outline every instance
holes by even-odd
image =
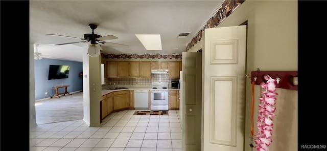
[[[271,131],[273,128],[272,118],[276,115],[274,114],[276,107],[276,98],[278,95],[275,93],[276,91],[276,80],[271,78],[269,75],[265,76],[267,82],[262,82],[260,84],[261,88],[265,89],[265,91],[261,92],[260,104],[259,104],[259,117],[256,125],[258,126],[257,135],[255,136],[255,144],[258,146],[254,146],[258,151],[268,151],[269,145],[272,142],[270,136],[272,135]]]

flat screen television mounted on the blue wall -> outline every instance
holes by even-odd
[[[48,80],[68,78],[69,66],[67,65],[50,65]]]

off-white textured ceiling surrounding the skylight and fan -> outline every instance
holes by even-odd
[[[95,34],[118,39],[101,44],[105,54],[181,54],[213,16],[222,1],[30,1],[30,42],[39,44],[44,58],[82,61],[88,43],[84,38],[96,24]],[[190,33],[178,38],[179,33]],[[148,51],[135,34],[160,34],[161,51]]]

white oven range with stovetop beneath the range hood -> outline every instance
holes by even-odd
[[[150,89],[151,110],[168,110],[168,82],[153,81]]]

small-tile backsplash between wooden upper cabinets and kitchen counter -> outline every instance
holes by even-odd
[[[171,87],[171,81],[178,81],[179,78],[169,78],[167,74],[153,74],[151,78],[106,78],[105,85],[151,85],[152,81],[167,81]],[[111,84],[110,84],[111,83]]]

